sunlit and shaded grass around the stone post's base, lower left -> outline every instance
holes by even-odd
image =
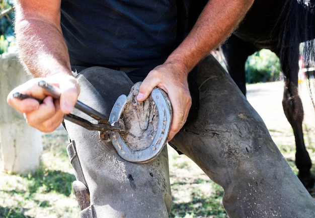
[[[0,174],[0,218],[78,217],[66,144],[62,130],[44,134],[42,163],[34,174]]]

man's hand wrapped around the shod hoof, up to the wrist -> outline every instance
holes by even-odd
[[[140,102],[144,101],[155,87],[163,89],[168,94],[173,107],[173,120],[168,141],[172,140],[183,127],[191,107],[187,75],[187,70],[166,62],[152,69],[140,86],[137,97]]]

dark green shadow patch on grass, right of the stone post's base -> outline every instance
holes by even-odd
[[[28,190],[31,194],[36,193],[40,189],[44,193],[56,192],[69,196],[75,177],[60,170],[40,168],[33,175],[28,176],[27,179],[29,180]]]

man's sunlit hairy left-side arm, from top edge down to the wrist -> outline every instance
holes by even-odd
[[[19,57],[34,77],[70,74],[67,46],[60,26],[61,0],[17,0],[15,33]]]

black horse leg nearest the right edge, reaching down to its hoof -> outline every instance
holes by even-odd
[[[303,106],[298,95],[298,44],[292,48],[290,55],[280,58],[283,73],[285,75],[283,110],[286,118],[291,124],[295,136],[296,154],[295,164],[298,178],[307,189],[314,187],[315,177],[310,173],[311,160],[306,151],[303,139]],[[290,60],[289,60],[290,58]]]

